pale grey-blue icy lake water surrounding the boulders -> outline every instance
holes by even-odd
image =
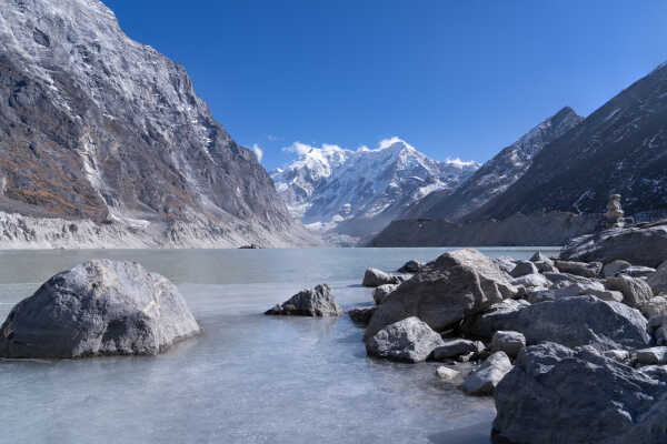
[[[367,266],[444,251],[0,252],[0,321],[58,271],[109,258],[171,279],[205,330],[157,357],[0,361],[0,443],[488,443],[492,401],[438,381],[435,363],[367,357],[347,315],[261,314],[322,282],[344,309],[372,302]]]

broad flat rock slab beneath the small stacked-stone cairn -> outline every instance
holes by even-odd
[[[560,252],[560,256],[603,263],[624,260],[655,269],[667,261],[667,221],[587,234],[574,239]]]

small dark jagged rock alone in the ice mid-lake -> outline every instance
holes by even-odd
[[[265,314],[292,316],[338,316],[342,309],[334,300],[331,289],[327,284],[313,289],[301,290],[282,304],[267,310]]]

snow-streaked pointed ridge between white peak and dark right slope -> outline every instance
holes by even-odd
[[[545,120],[486,162],[455,192],[436,191],[410,205],[401,219],[434,218],[461,220],[502,194],[530,168],[539,151],[584,118],[567,107]]]

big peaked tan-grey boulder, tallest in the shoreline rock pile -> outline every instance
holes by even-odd
[[[445,253],[378,306],[365,336],[409,316],[442,331],[516,293],[498,265],[477,250]]]

